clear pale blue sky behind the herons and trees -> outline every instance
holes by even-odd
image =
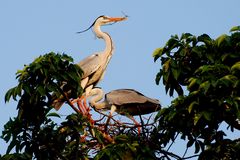
[[[115,53],[99,86],[106,92],[134,88],[167,106],[171,98],[162,85],[155,84],[160,63],[153,62],[154,49],[173,34],[207,33],[213,38],[228,34],[232,26],[240,25],[239,6],[239,0],[1,0],[0,132],[17,113],[16,102],[4,103],[6,91],[17,84],[16,71],[51,51],[65,52],[77,63],[102,50],[103,41],[91,31],[75,34],[98,16],[123,16],[122,12],[129,16],[127,21],[102,28],[112,36]],[[0,154],[5,153],[6,146],[0,140]],[[181,148],[176,150],[182,153]]]

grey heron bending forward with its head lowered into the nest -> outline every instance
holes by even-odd
[[[90,91],[89,96],[90,105],[97,110],[111,110],[110,116],[113,112],[117,112],[122,115],[126,115],[135,124],[133,116],[144,115],[152,113],[161,109],[161,105],[157,99],[149,98],[142,93],[135,91],[133,89],[117,89],[105,94],[105,99],[103,99],[104,93],[100,88],[94,88]]]

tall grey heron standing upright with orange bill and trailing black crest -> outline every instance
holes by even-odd
[[[101,26],[126,20],[127,17],[108,17],[108,16],[99,16],[94,23],[86,30],[93,28],[94,33],[97,38],[103,39],[105,41],[105,49],[101,52],[94,53],[78,64],[83,70],[83,76],[81,79],[81,87],[84,89],[83,99],[86,102],[86,98],[89,92],[92,90],[96,84],[102,80],[106,67],[113,54],[113,42],[110,35],[106,32],[102,32]],[[78,32],[78,33],[82,33]],[[52,106],[59,110],[62,104],[64,103],[64,96],[53,101]]]

